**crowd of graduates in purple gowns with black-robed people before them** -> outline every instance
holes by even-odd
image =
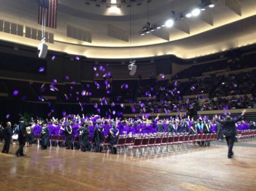
[[[220,117],[220,116],[219,116]],[[17,134],[17,125],[13,126],[13,134]],[[238,130],[255,129],[255,122],[247,123],[241,121],[237,123]],[[75,137],[79,137],[79,146],[81,151],[91,150],[90,141],[94,142],[93,150],[101,152],[100,144],[104,137],[108,138],[109,146],[117,143],[119,135],[151,134],[151,133],[185,133],[209,134],[218,133],[218,139],[222,140],[222,126],[215,120],[215,117],[209,119],[207,116],[199,116],[194,120],[190,116],[175,116],[161,118],[160,115],[153,119],[135,117],[129,119],[110,119],[99,115],[85,117],[84,115],[67,115],[58,120],[52,117],[50,120],[33,120],[26,124],[26,146],[34,143],[34,137],[41,140],[41,149],[47,149],[50,136],[65,136],[65,148],[73,149]],[[112,147],[113,148],[113,147]],[[113,151],[113,150],[112,150]],[[113,151],[116,153],[116,150]]]

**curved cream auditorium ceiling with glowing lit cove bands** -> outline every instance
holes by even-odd
[[[26,26],[40,30],[37,1],[1,2],[0,20],[23,24],[24,33]],[[46,27],[54,34],[49,49],[91,58],[192,58],[256,42],[255,0],[211,2],[214,8],[205,4],[199,16],[186,18],[201,0],[58,0],[57,29]],[[168,19],[174,26],[156,28]],[[147,23],[155,31],[141,35]],[[86,40],[80,33],[87,35]],[[23,45],[36,47],[39,42],[0,34],[1,40]]]

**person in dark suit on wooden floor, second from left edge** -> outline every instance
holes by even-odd
[[[23,157],[23,156],[26,156],[26,155],[24,155],[24,152],[23,152],[23,148],[26,143],[26,126],[25,126],[23,117],[20,117],[19,124],[18,124],[17,128],[18,128],[18,135],[19,135],[19,137],[18,137],[19,148],[15,152],[15,155],[17,157]]]

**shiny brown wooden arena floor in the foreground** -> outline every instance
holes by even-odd
[[[138,157],[56,148],[0,153],[0,190],[256,190],[256,141]],[[0,145],[2,150],[3,145]]]

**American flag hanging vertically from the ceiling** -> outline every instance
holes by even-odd
[[[38,24],[56,28],[58,0],[39,0]]]

